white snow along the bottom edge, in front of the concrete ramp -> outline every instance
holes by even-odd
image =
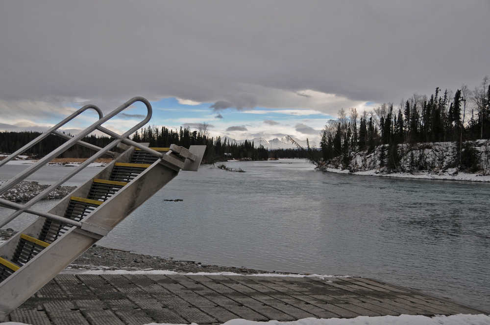
[[[427,317],[421,315],[400,316],[358,316],[356,318],[303,318],[293,322],[254,322],[245,319],[233,319],[223,325],[489,325],[488,315],[451,315]],[[25,323],[6,322],[0,325],[29,325]],[[146,325],[171,325],[168,323],[149,323]],[[175,325],[175,324],[172,324]],[[179,324],[184,325],[184,324]],[[192,323],[191,325],[197,325]]]

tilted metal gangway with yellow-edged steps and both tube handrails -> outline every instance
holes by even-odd
[[[147,116],[124,134],[117,134],[101,126],[136,102],[146,105]],[[98,113],[97,122],[74,137],[57,131],[88,109]],[[206,149],[205,145],[191,145],[189,149],[174,144],[170,148],[148,148],[145,144],[128,139],[129,135],[149,121],[151,114],[151,104],[143,97],[131,98],[106,116],[103,116],[97,106],[86,105],[0,161],[1,167],[50,134],[68,139],[49,155],[1,185],[1,194],[74,144],[97,151],[72,172],[25,204],[0,199],[0,205],[15,210],[11,215],[0,220],[0,228],[24,212],[39,216],[23,231],[0,246],[0,321],[100,238],[107,235],[134,209],[170,182],[181,169],[192,171],[198,169]],[[81,140],[95,130],[111,136],[114,140],[104,148]],[[115,147],[123,152],[111,151]],[[114,160],[92,179],[63,198],[49,212],[32,209],[32,206],[46,197],[49,192],[106,154],[112,155]]]

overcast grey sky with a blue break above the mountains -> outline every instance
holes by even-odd
[[[489,30],[489,0],[1,1],[0,129],[142,95],[150,124],[305,139],[340,108],[473,88]]]

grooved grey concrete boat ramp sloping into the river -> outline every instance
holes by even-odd
[[[488,314],[364,278],[62,274],[9,315],[33,325]]]

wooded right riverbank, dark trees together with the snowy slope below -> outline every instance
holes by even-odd
[[[319,167],[351,172],[440,171],[490,174],[490,78],[470,90],[436,88],[414,94],[397,108],[383,103],[361,115],[341,109],[329,120],[319,150],[308,158]]]

